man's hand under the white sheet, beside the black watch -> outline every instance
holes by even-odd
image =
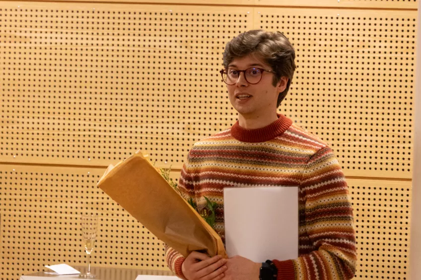
[[[261,263],[255,263],[241,256],[229,258],[222,280],[259,280]]]

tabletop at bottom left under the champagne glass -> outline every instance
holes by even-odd
[[[85,273],[86,267],[71,266],[80,273]],[[45,269],[45,272],[53,272]],[[158,275],[158,276],[174,276],[171,271],[164,270],[148,270],[148,269],[123,269],[123,268],[100,268],[91,267],[91,273],[96,276],[93,280],[135,280],[138,275]],[[58,279],[79,279],[78,274],[73,275],[52,275],[46,274],[44,271],[36,272],[28,275],[22,275],[20,280],[53,280]]]

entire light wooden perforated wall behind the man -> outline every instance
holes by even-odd
[[[218,70],[240,32],[280,30],[297,70],[279,112],[335,150],[350,186],[356,279],[409,272],[416,0],[0,2],[0,277],[84,265],[167,269],[162,243],[96,187],[142,149],[178,178],[235,122]]]

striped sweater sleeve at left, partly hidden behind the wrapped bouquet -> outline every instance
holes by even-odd
[[[183,168],[181,169],[180,179],[178,180],[178,188],[180,190],[181,196],[188,200],[189,198],[194,197],[194,184],[193,180],[189,173],[189,162],[190,162],[190,153],[187,156],[187,160],[183,164]],[[181,266],[185,258],[182,254],[164,244],[165,250],[165,261],[167,262],[168,268],[175,274],[177,277],[186,280],[181,271]]]

